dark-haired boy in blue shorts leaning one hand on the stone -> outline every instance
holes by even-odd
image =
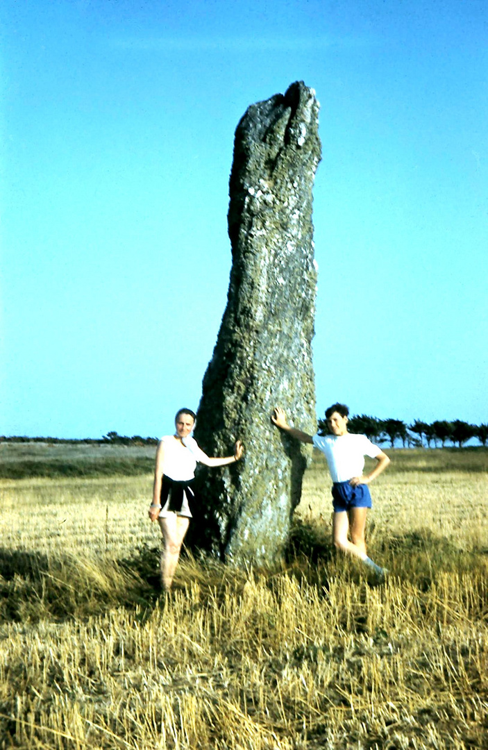
[[[367,508],[371,507],[370,481],[386,469],[390,459],[379,446],[371,443],[366,435],[354,435],[347,431],[349,409],[345,404],[333,404],[325,412],[331,435],[308,435],[290,427],[283,409],[277,407],[271,421],[301,443],[312,443],[327,458],[332,481],[332,505],[334,506],[333,538],[337,549],[361,559],[373,569],[380,580],[385,578],[385,569],[376,565],[367,556],[364,531]],[[375,458],[373,471],[364,475],[364,456]],[[349,541],[349,535],[351,541]]]

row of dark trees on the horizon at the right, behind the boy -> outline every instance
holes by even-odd
[[[401,441],[404,448],[445,447],[446,443],[461,448],[468,440],[476,438],[482,446],[487,445],[488,425],[470,425],[462,419],[448,422],[436,420],[430,425],[415,419],[412,425],[406,425],[401,419],[377,419],[366,414],[355,414],[349,417],[349,432],[363,434],[376,443],[390,441],[391,448],[395,441]],[[319,431],[327,434],[327,422],[319,419]]]

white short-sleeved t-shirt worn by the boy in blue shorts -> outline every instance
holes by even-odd
[[[349,481],[361,476],[364,456],[376,458],[382,449],[371,443],[366,435],[314,435],[313,445],[325,454],[332,481]]]

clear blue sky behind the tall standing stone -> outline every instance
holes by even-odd
[[[317,411],[488,422],[485,0],[4,0],[0,434],[164,434],[226,305],[234,130],[321,103]]]

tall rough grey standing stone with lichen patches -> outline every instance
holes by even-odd
[[[293,83],[253,104],[235,131],[229,183],[232,271],[202,388],[195,437],[208,455],[243,460],[197,474],[202,517],[193,544],[241,565],[283,554],[311,446],[271,423],[275,406],[316,429],[311,341],[316,299],[312,186],[319,103]]]

